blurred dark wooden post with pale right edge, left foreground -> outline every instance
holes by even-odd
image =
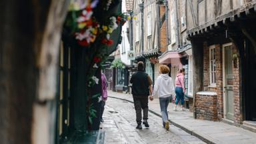
[[[59,40],[68,4],[0,1],[0,143],[54,143]]]

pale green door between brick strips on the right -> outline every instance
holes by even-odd
[[[223,98],[225,118],[234,120],[232,43],[223,45]]]

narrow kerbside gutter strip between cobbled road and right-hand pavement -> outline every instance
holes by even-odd
[[[108,96],[108,97],[111,97],[111,96]],[[113,98],[113,99],[120,99],[120,100],[123,100],[123,101],[128,101],[129,103],[133,103],[133,101],[130,101],[128,99],[122,99],[122,98],[119,98],[119,97],[111,97],[111,98]],[[157,115],[158,117],[161,117],[161,115],[159,113],[156,113],[155,111],[152,111],[151,109],[149,109],[149,112],[153,113],[154,115]],[[205,135],[203,135],[201,133],[198,133],[197,131],[192,131],[191,129],[188,129],[188,128],[184,127],[183,125],[180,125],[179,123],[175,123],[175,121],[172,121],[171,119],[169,119],[169,121],[170,121],[171,124],[175,125],[175,127],[179,127],[183,131],[186,131],[190,135],[193,135],[193,136],[201,139],[205,143],[216,144],[213,140],[207,139],[205,137]]]

